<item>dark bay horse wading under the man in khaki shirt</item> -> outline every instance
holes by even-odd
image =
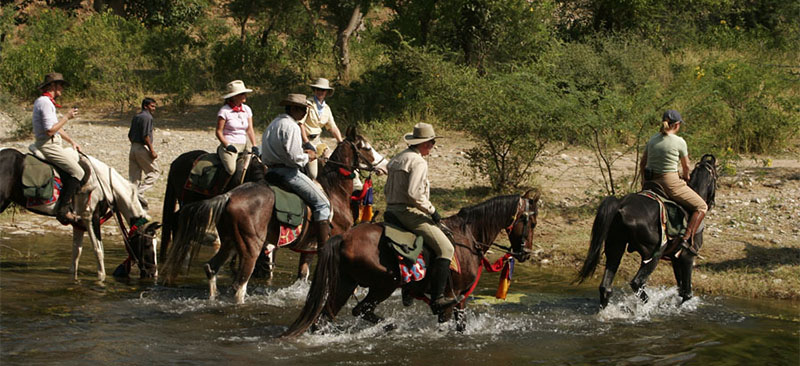
[[[508,235],[511,246],[500,248],[516,260],[526,261],[533,247],[538,202],[539,194],[532,195],[531,191],[522,196],[498,196],[462,208],[458,214],[442,219],[442,225],[452,233],[455,258],[460,267],[460,272],[451,270],[445,293],[460,298],[474,289],[486,252],[496,245],[494,240],[502,231]],[[369,292],[353,308],[353,316],[375,323],[382,320],[374,313],[375,307],[389,298],[398,287],[402,286],[410,296],[425,298],[427,277],[403,285],[397,253],[387,245],[380,244],[382,234],[383,224],[362,223],[328,240],[319,253],[306,303],[282,337],[304,333],[317,322],[323,311],[333,319],[357,286],[366,287]],[[458,329],[463,330],[466,299],[442,312],[439,322],[449,320],[454,307],[458,309],[455,312]]]

